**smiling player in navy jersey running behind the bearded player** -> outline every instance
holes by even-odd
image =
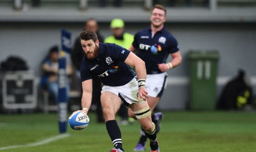
[[[147,102],[152,113],[152,121],[156,124],[157,133],[160,130],[159,123],[162,120],[162,113],[153,113],[153,110],[166,88],[166,71],[180,65],[182,62],[177,40],[165,29],[165,20],[166,10],[164,6],[155,5],[151,11],[151,25],[135,34],[134,42],[129,48],[134,53],[137,49],[136,55],[146,65],[147,82],[145,87],[149,95]],[[166,63],[169,54],[172,56],[172,61]],[[135,118],[134,113],[130,110],[129,116]],[[142,128],[139,143],[134,151],[145,150],[146,140],[147,137]]]

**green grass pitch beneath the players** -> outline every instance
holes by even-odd
[[[0,114],[0,152],[109,152],[114,146],[105,124],[96,122],[95,113],[88,115],[87,128],[75,131],[67,125],[69,137],[26,146],[59,135],[57,113]],[[161,152],[256,152],[255,112],[170,111],[164,112],[161,125]],[[119,127],[125,152],[132,152],[139,123]]]

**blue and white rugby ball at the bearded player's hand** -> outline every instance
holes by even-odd
[[[68,125],[74,130],[82,130],[89,125],[89,116],[84,112],[74,112],[68,118]]]

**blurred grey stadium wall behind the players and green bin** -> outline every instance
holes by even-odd
[[[126,22],[126,32],[135,34],[149,26],[149,22]],[[61,28],[72,33],[72,44],[83,29],[83,22],[1,22],[0,61],[10,55],[26,60],[30,70],[40,77],[40,64],[53,45],[60,46]],[[244,69],[252,78],[256,95],[256,29],[253,23],[166,23],[178,40],[183,57],[182,65],[168,71],[168,86],[161,99],[161,110],[182,110],[189,102],[187,53],[190,50],[218,50],[217,97],[223,86]],[[109,22],[100,22],[104,37],[111,34]],[[170,57],[168,58],[170,61]]]

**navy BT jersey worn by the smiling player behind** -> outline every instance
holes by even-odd
[[[157,64],[166,63],[168,55],[179,50],[177,40],[165,27],[153,37],[150,26],[140,30],[132,45],[138,49],[136,55],[145,62],[147,74],[162,73]]]

